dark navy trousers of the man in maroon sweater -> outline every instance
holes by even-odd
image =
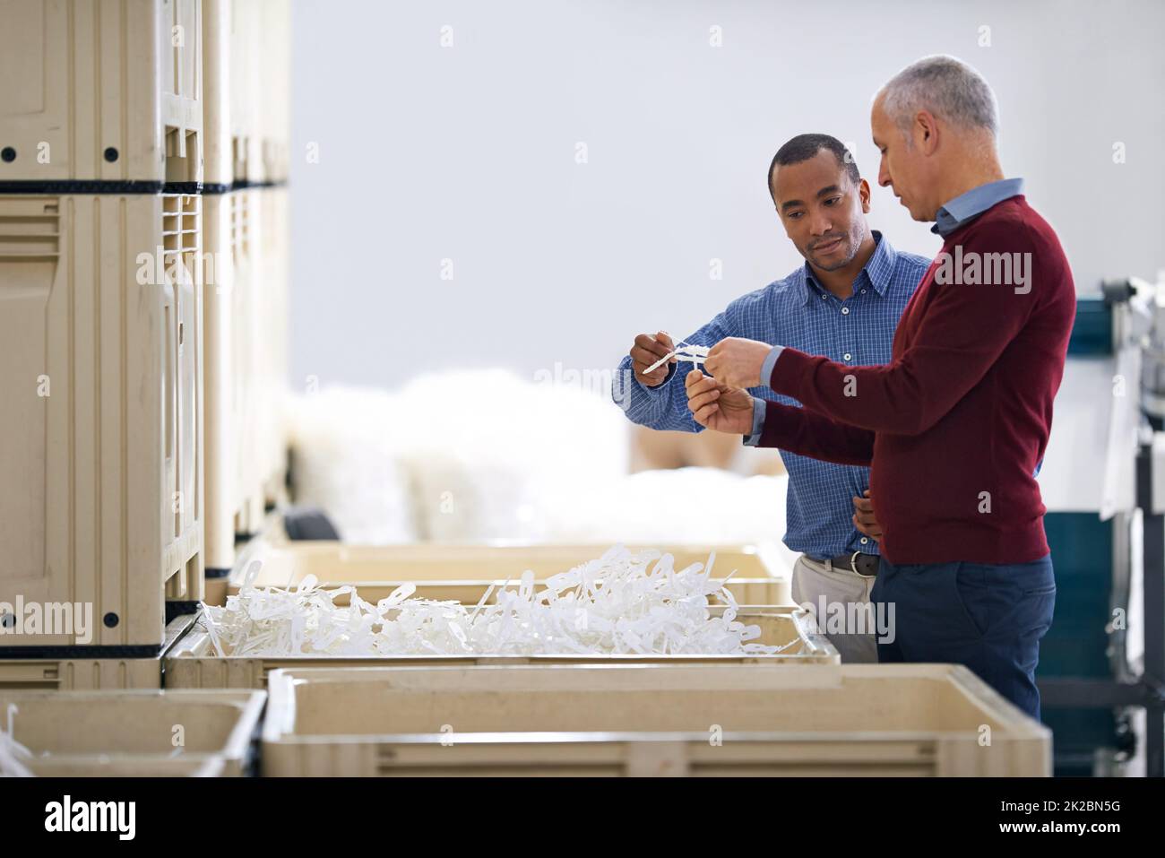
[[[898,565],[885,557],[870,591],[878,618],[894,618],[880,662],[966,664],[988,685],[1039,718],[1036,664],[1052,625],[1052,555],[1031,563]],[[881,604],[880,604],[881,603]],[[894,605],[894,614],[889,605]],[[884,613],[883,613],[884,612]]]

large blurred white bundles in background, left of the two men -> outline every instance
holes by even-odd
[[[541,540],[556,499],[628,470],[630,424],[609,395],[553,378],[442,372],[289,405],[294,499],[345,542]]]

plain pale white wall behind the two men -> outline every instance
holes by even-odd
[[[1004,169],[1080,291],[1165,267],[1156,0],[295,0],[294,15],[299,388],[603,368],[640,331],[689,333],[802,263],[764,185],[779,145],[855,141],[876,177],[870,97],[934,52],[995,86]],[[938,247],[887,189],[871,220],[899,248]]]

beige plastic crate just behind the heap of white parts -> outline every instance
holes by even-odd
[[[516,586],[527,569],[541,589],[551,575],[565,572],[595,557],[609,546],[552,544],[442,544],[354,546],[343,542],[291,542],[273,534],[248,544],[230,578],[236,593],[248,570],[259,563],[255,586],[287,588],[313,575],[323,586],[351,584],[366,602],[379,602],[404,583],[417,585],[416,596],[476,604],[490,584],[507,578]],[[642,550],[644,546],[630,546]],[[675,568],[706,563],[716,553],[713,572],[728,579],[728,589],[741,605],[792,606],[790,577],[771,546],[669,547]],[[493,597],[490,597],[493,598]],[[347,604],[339,597],[337,604]]]

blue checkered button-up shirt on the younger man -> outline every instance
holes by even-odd
[[[853,366],[889,363],[898,318],[931,260],[895,251],[878,232],[874,238],[877,246],[845,301],[821,288],[806,263],[788,277],[736,298],[683,342],[712,346],[726,337],[744,337]],[[691,364],[673,364],[664,382],[645,387],[634,377],[630,356],[624,357],[612,396],[641,426],[702,431],[687,408],[684,377],[689,370]],[[762,396],[800,406],[768,386],[749,388],[749,393],[757,398],[754,413],[763,410]],[[853,498],[869,487],[869,469],[819,462],[785,450],[781,457],[789,471],[785,544],[818,560],[852,551],[877,554],[877,543],[852,521]]]

